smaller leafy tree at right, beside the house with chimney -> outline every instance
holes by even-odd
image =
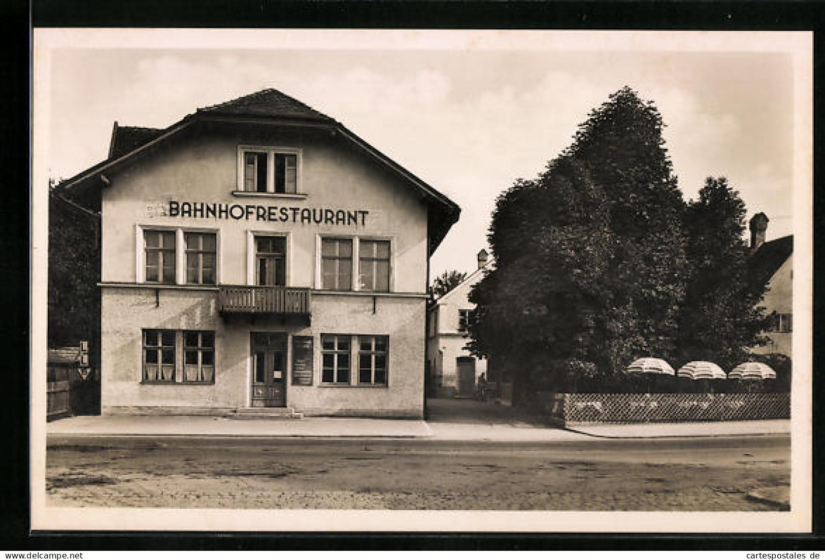
[[[748,275],[750,250],[743,241],[745,204],[724,177],[708,177],[687,207],[686,255],[690,265],[681,308],[682,361],[711,360],[723,367],[747,359],[747,348],[764,340],[758,307],[765,291]]]

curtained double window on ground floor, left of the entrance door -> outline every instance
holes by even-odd
[[[214,383],[214,331],[144,329],[143,354],[146,383]]]

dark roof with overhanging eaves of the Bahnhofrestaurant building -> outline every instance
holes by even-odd
[[[241,96],[217,105],[201,107],[186,115],[166,129],[151,129],[139,126],[119,126],[115,122],[112,129],[109,156],[105,161],[89,167],[86,171],[63,181],[58,186],[63,193],[71,193],[76,187],[93,185],[102,188],[107,183],[105,173],[112,172],[138,158],[149,150],[162,145],[167,139],[181,134],[192,125],[205,122],[226,123],[266,123],[322,127],[337,132],[365,153],[389,167],[417,191],[427,201],[428,228],[430,229],[430,253],[436,250],[452,224],[458,221],[461,209],[452,200],[436,191],[413,173],[398,165],[392,159],[367,144],[337,120],[315,111],[312,107],[275,89]]]

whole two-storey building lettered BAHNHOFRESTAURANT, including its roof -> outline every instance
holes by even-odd
[[[336,120],[269,89],[115,123],[59,191],[101,213],[104,413],[422,416],[460,209]]]

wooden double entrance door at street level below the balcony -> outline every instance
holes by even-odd
[[[252,333],[252,407],[286,406],[286,335]]]

